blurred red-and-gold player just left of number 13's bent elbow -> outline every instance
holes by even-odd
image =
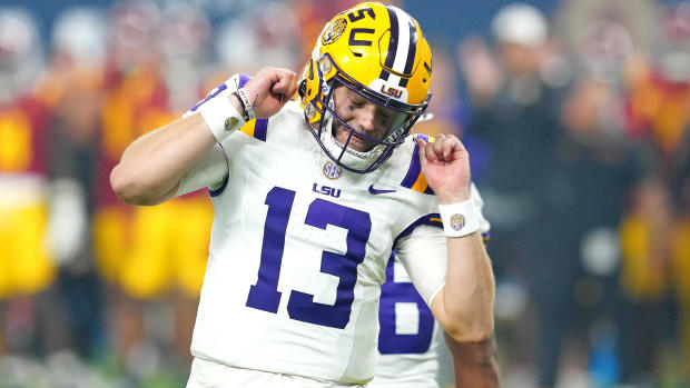
[[[105,70],[105,100],[100,112],[101,133],[97,161],[93,239],[97,268],[107,281],[109,348],[119,370],[144,342],[144,307],[122,291],[124,268],[135,240],[134,209],[121,203],[110,190],[109,172],[125,147],[144,128],[152,128],[162,117],[166,90],[160,80],[155,31],[159,10],[150,1],[126,1],[108,14]],[[136,279],[136,278],[135,278]],[[157,359],[152,359],[156,362]],[[147,364],[149,365],[149,364]],[[130,372],[131,374],[131,372]]]

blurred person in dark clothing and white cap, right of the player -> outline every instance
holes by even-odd
[[[565,326],[561,320],[569,314],[562,299],[571,287],[562,273],[570,276],[576,262],[568,257],[576,248],[574,241],[565,240],[572,236],[565,230],[570,223],[556,222],[562,219],[552,216],[564,200],[552,178],[562,91],[550,84],[543,72],[549,59],[548,31],[539,10],[522,3],[506,6],[494,17],[492,30],[497,61],[476,40],[460,49],[473,109],[463,141],[481,145],[489,155],[486,166],[473,176],[481,176],[479,186],[491,212],[487,218],[492,223],[495,220],[489,249],[499,279],[497,317],[502,315],[502,286],[516,282],[525,287],[528,282],[536,301],[539,329],[524,332],[531,331],[531,326],[520,325],[516,330],[521,337],[538,336],[539,380],[549,387],[555,381],[554,354],[560,349],[553,347],[558,347],[560,327]],[[472,150],[472,155],[476,152]],[[515,291],[507,294],[515,297]],[[505,318],[524,322],[519,318],[524,310],[518,308],[513,315]],[[525,355],[530,350],[513,350],[514,364],[530,362]]]

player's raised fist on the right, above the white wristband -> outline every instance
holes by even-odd
[[[438,135],[434,142],[417,138],[420,162],[426,182],[442,205],[470,199],[470,155],[453,135]]]

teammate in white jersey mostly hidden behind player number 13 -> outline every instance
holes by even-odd
[[[483,218],[483,201],[472,185],[480,217],[480,232],[489,239],[490,223]],[[438,388],[438,324],[412,285],[401,260],[392,255],[386,266],[378,308],[378,365],[367,388]],[[457,342],[446,336],[459,388],[497,388],[499,370],[493,339]]]

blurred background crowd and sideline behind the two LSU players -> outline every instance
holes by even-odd
[[[210,201],[110,170],[357,2],[2,2],[0,387],[184,386]],[[690,1],[528,2],[395,1],[434,50],[415,130],[486,202],[504,386],[690,387]]]

